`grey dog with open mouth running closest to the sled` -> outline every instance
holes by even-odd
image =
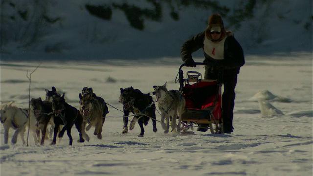
[[[172,118],[171,127],[173,134],[180,132],[181,114],[185,109],[186,101],[182,94],[178,90],[167,90],[166,83],[163,86],[153,86],[156,95],[156,101],[158,102],[158,109],[161,111],[161,125],[164,133],[169,132],[169,119]],[[176,118],[179,116],[177,131]],[[166,124],[164,123],[166,120]]]

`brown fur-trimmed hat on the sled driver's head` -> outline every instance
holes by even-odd
[[[213,14],[209,17],[209,24],[205,30],[205,36],[209,40],[211,40],[210,32],[211,32],[212,27],[214,27],[214,28],[220,27],[221,28],[221,38],[220,39],[224,39],[224,37],[226,37],[226,30],[224,28],[223,20],[222,20],[222,17],[220,14]]]

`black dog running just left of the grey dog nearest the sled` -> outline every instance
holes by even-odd
[[[140,90],[134,89],[133,87],[125,89],[121,88],[120,91],[119,102],[123,104],[124,111],[124,127],[122,133],[126,134],[128,132],[127,124],[130,112],[134,114],[134,117],[129,125],[129,129],[133,130],[136,121],[138,121],[141,130],[139,137],[143,137],[145,132],[143,124],[146,126],[150,118],[152,120],[153,132],[157,132],[155,114],[156,106],[152,103],[152,97],[149,94],[143,94]]]

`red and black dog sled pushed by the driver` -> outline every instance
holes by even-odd
[[[196,63],[196,65],[205,65]],[[193,129],[198,125],[198,131],[205,132],[208,129],[212,134],[222,133],[222,98],[221,98],[221,74],[217,79],[203,79],[202,74],[196,71],[187,71],[184,78],[182,64],[178,77],[179,91],[186,100],[186,106],[182,116],[182,134],[194,134]],[[202,128],[202,129],[201,129]],[[204,128],[204,129],[203,129]]]

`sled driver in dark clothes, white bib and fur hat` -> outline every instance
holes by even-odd
[[[192,53],[204,51],[205,79],[217,79],[221,70],[224,92],[222,94],[223,132],[233,132],[233,110],[235,105],[235,87],[240,67],[245,64],[243,49],[231,31],[224,28],[220,14],[209,17],[205,31],[184,42],[181,46],[181,58],[187,67],[196,67]],[[207,124],[200,124],[198,131],[207,131]]]

